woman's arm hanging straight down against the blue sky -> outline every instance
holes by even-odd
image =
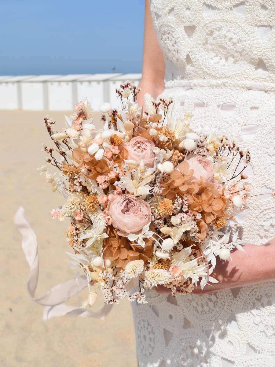
[[[145,93],[149,93],[153,98],[157,98],[163,92],[164,75],[165,62],[163,54],[155,34],[150,5],[148,0],[145,0],[142,79],[139,83],[139,87],[142,90],[139,92],[137,99],[140,106],[143,104]]]

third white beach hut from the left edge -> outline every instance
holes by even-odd
[[[77,102],[76,81],[88,74],[62,75],[48,81],[49,110],[72,110]]]

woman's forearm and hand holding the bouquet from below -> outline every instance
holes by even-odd
[[[244,245],[245,252],[235,250],[231,259],[224,261],[217,257],[217,265],[211,274],[219,283],[210,283],[201,290],[198,285],[195,294],[208,294],[227,288],[261,283],[275,279],[275,238],[264,246]],[[169,289],[158,287],[159,293],[168,293]]]

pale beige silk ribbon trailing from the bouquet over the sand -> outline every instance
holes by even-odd
[[[27,279],[27,290],[30,297],[39,305],[45,306],[43,313],[43,320],[49,320],[52,317],[58,316],[82,316],[94,317],[96,319],[104,319],[110,312],[112,305],[104,305],[98,312],[91,312],[84,308],[64,305],[63,302],[73,297],[75,294],[87,287],[86,277],[83,275],[79,277],[78,284],[76,279],[70,279],[65,283],[57,284],[52,287],[47,293],[40,298],[35,298],[35,291],[38,283],[39,263],[37,240],[34,230],[24,217],[24,209],[20,207],[14,217],[16,228],[21,233],[22,249],[26,260],[30,266],[29,277]]]

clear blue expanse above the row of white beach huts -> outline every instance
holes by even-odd
[[[1,0],[0,75],[141,72],[143,0]]]

